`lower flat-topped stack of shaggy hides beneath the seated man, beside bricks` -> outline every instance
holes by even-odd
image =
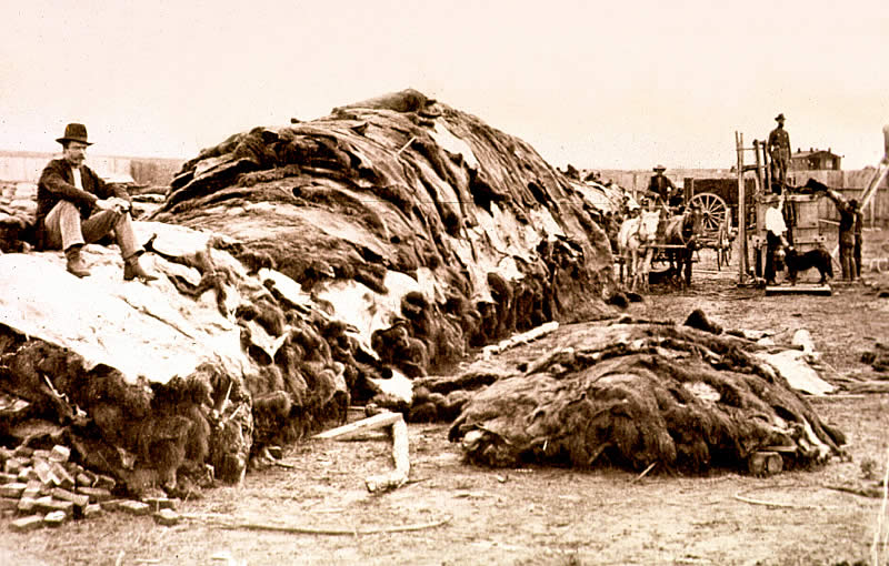
[[[116,246],[84,246],[83,279],[61,252],[0,254],[0,392],[17,407],[0,443],[67,444],[132,493],[181,492],[344,421],[359,364],[344,324],[237,242],[134,228],[150,284],[123,281]]]

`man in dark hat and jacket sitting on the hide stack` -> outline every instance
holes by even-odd
[[[68,271],[78,277],[90,274],[80,249],[113,234],[123,256],[123,279],[156,280],[139,264],[143,250],[137,245],[130,218],[130,195],[122,188],[104,181],[83,164],[87,128],[68,124],[62,159],[50,161],[37,185],[38,244],[46,250],[64,250]]]

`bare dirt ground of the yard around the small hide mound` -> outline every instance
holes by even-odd
[[[889,255],[882,233],[869,237],[866,251]],[[889,380],[860,362],[861,352],[889,337],[889,300],[867,285],[839,283],[829,297],[766,297],[735,285],[737,254],[732,260],[717,271],[712,252],[702,251],[690,290],[656,289],[629,311],[681,322],[701,307],[726,327],[775,331],[777,342],[809,330],[828,368],[823,376],[840,387],[811,402],[847,434],[850,461],[768,478],[483,469],[461,462],[447,424],[411,424],[410,482],[399,489],[371,495],[364,487],[367,476],[392,467],[384,437],[307,441],[284,451],[292,467],[254,472],[242,486],[184,502],[188,518],[178,526],[117,513],[16,534],[4,517],[0,564],[871,564],[882,501],[837,487],[873,488],[886,469],[889,395],[849,392]],[[889,284],[887,274],[865,275]],[[562,326],[501,356],[527,360],[588,327]],[[246,528],[251,523],[294,532]],[[403,532],[381,532],[393,528]]]

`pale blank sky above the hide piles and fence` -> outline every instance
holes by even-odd
[[[414,88],[555,166],[728,168],[735,132],[876,165],[889,2],[6,0],[0,149],[189,159]]]

